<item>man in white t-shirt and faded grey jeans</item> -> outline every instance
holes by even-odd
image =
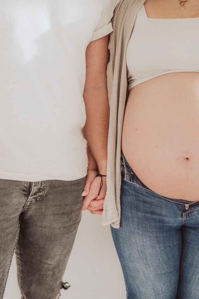
[[[58,298],[83,196],[103,209],[116,2],[0,2],[0,298],[15,247],[22,298]]]

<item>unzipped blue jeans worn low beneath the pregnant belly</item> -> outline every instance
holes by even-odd
[[[199,202],[148,189],[121,155],[121,226],[111,228],[127,299],[199,299]]]

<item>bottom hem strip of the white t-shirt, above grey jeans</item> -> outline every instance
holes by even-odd
[[[37,181],[46,181],[46,180],[60,180],[60,181],[75,181],[82,179],[87,175],[87,169],[74,173],[69,176],[44,176],[37,174],[27,174],[27,173],[13,173],[13,172],[3,172],[0,171],[0,179],[3,180],[12,180],[12,181],[28,181],[28,182],[37,182]]]

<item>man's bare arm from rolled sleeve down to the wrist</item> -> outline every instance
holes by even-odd
[[[107,63],[109,36],[91,42],[86,49],[86,82],[83,93],[86,107],[84,132],[101,174],[107,170],[109,103]]]

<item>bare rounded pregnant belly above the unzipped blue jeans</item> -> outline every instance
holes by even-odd
[[[171,73],[131,89],[122,151],[154,192],[199,200],[199,73]]]

